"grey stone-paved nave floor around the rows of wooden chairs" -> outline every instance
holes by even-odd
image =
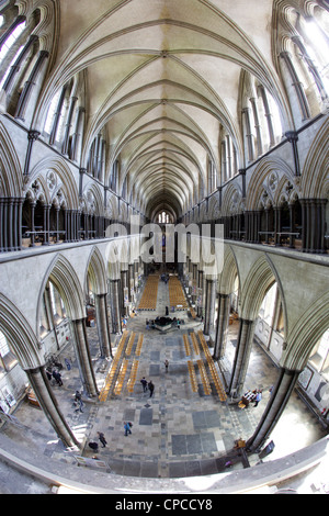
[[[232,451],[235,439],[248,439],[257,427],[268,397],[269,388],[275,382],[277,369],[254,344],[246,379],[246,389],[263,389],[263,400],[258,407],[240,410],[230,399],[220,402],[213,390],[205,395],[201,379],[198,392],[191,390],[188,357],[183,345],[183,334],[202,328],[201,322],[189,318],[186,312],[180,312],[184,324],[180,329],[161,334],[156,329],[146,330],[146,318],[164,315],[169,304],[168,287],[159,283],[158,304],[155,312],[141,312],[138,317],[129,318],[127,330],[136,333],[129,358],[126,380],[136,354],[137,336],[144,334],[144,344],[136,377],[134,392],[127,391],[124,383],[121,394],[110,393],[106,401],[98,403],[84,400],[83,412],[75,412],[72,397],[81,389],[79,369],[72,349],[67,347],[61,354],[69,358],[72,367],[63,370],[63,386],[53,385],[55,395],[82,445],[84,458],[94,453],[88,447],[90,439],[98,439],[98,431],[103,431],[107,440],[105,448],[100,447],[98,459],[104,462],[106,471],[113,473],[145,478],[180,478],[200,474],[212,474],[225,471],[225,463],[231,460],[234,469],[241,469],[246,458]],[[234,346],[238,326],[229,327],[229,344]],[[97,328],[88,328],[94,371],[101,390],[111,368],[111,361],[99,357]],[[121,336],[112,336],[113,351]],[[197,356],[193,355],[192,360]],[[169,360],[166,372],[164,360]],[[155,394],[144,393],[139,380],[146,377],[155,384]],[[26,446],[37,448],[48,458],[76,463],[76,455],[64,449],[49,423],[41,410],[22,402],[14,413],[16,425],[7,424],[2,433],[12,439],[23,440]],[[133,423],[132,435],[125,436],[123,422]],[[317,418],[294,394],[271,438],[274,451],[264,460],[284,457],[318,440],[326,430]],[[257,455],[249,456],[253,465],[259,461]]]

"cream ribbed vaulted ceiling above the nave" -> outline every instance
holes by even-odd
[[[145,213],[175,215],[197,197],[219,131],[238,153],[241,70],[281,102],[272,0],[59,0],[54,83],[86,70],[88,139],[106,132],[109,167],[139,192]],[[243,164],[241,164],[243,166]],[[194,190],[194,191],[193,191]]]

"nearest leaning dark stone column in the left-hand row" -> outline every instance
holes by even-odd
[[[79,447],[78,440],[73,436],[58,407],[57,400],[52,391],[44,368],[27,369],[25,370],[25,373],[41,407],[58,438],[68,448],[73,446]]]

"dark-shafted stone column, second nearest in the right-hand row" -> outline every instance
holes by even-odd
[[[229,383],[229,393],[231,394],[235,391],[236,396],[241,394],[241,390],[243,388],[252,347],[254,321],[240,318],[236,355]]]

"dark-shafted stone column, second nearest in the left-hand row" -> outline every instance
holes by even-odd
[[[94,371],[92,368],[88,337],[86,332],[86,318],[72,321],[76,352],[80,368],[83,391],[89,396],[99,394]]]

